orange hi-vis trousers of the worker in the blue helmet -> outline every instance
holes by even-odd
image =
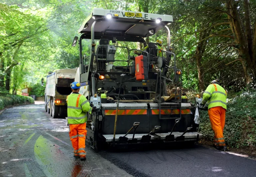
[[[74,155],[85,157],[85,138],[87,134],[86,122],[82,124],[69,124],[69,137],[74,148]]]

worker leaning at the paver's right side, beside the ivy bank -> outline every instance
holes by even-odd
[[[214,131],[214,147],[218,150],[226,150],[227,146],[223,137],[225,116],[227,110],[227,92],[219,85],[218,80],[214,80],[206,88],[203,94],[201,106],[208,101],[208,115]]]

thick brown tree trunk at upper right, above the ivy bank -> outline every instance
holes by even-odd
[[[226,13],[236,48],[238,48],[239,60],[243,65],[246,82],[250,83],[252,79],[249,74],[256,76],[256,18],[250,16],[248,0],[226,0]],[[254,34],[251,21],[254,21]]]

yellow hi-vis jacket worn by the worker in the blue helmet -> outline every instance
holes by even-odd
[[[67,96],[68,124],[81,124],[87,121],[87,112],[92,113],[92,107],[84,95],[71,93]]]

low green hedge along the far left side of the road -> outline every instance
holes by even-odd
[[[13,95],[0,95],[0,110],[12,105]],[[30,96],[14,95],[14,104],[34,103],[34,99]]]

